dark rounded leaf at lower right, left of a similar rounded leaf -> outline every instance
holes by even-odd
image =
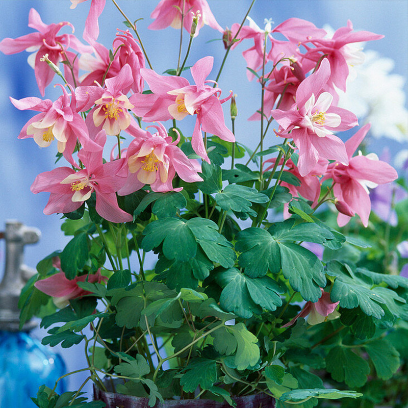
[[[326,356],[326,370],[331,378],[345,382],[349,387],[362,387],[366,384],[370,366],[350,348],[335,346]]]

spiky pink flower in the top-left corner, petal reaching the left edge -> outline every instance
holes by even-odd
[[[89,52],[89,47],[83,45],[77,37],[72,34],[57,35],[64,27],[69,25],[73,31],[73,25],[68,21],[46,25],[41,21],[41,17],[35,9],[30,10],[29,27],[37,30],[37,33],[23,35],[16,39],[5,38],[0,42],[0,51],[4,54],[16,54],[23,50],[34,52],[29,57],[29,63],[34,68],[35,78],[42,96],[45,94],[45,87],[53,80],[55,72],[41,61],[41,58],[48,54],[48,59],[54,64],[65,59],[65,56],[72,62],[76,54],[68,51],[69,47],[79,53]],[[62,54],[64,52],[65,55]],[[77,62],[77,61],[76,61]],[[78,71],[78,62],[74,64],[75,70]],[[73,85],[72,74],[69,67],[64,64],[65,78]]]

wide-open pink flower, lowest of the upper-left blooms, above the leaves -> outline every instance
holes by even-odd
[[[105,131],[100,131],[95,142],[104,146]],[[70,167],[57,167],[40,173],[31,186],[35,194],[46,191],[51,193],[44,214],[70,213],[77,210],[95,192],[96,212],[112,222],[132,221],[133,217],[118,206],[116,191],[120,190],[126,179],[117,173],[124,165],[124,159],[103,163],[103,151],[81,150],[78,157],[85,165],[75,171]]]

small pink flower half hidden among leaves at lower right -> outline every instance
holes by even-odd
[[[324,292],[322,288],[322,295],[317,302],[306,302],[303,309],[297,314],[290,322],[284,324],[282,327],[289,327],[296,322],[299,317],[308,317],[308,323],[315,325],[324,322],[326,319],[333,320],[340,316],[340,313],[336,311],[339,302],[333,303],[330,300],[330,294]]]

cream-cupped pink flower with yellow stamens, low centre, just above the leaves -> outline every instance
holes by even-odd
[[[156,192],[181,191],[182,187],[173,188],[175,174],[187,183],[202,181],[198,162],[188,159],[177,147],[180,135],[173,142],[161,123],[150,127],[155,127],[157,132],[153,135],[147,132],[146,138],[135,138],[126,150],[127,181],[118,194],[131,194],[145,184]],[[123,175],[124,171],[126,167],[119,174]]]

